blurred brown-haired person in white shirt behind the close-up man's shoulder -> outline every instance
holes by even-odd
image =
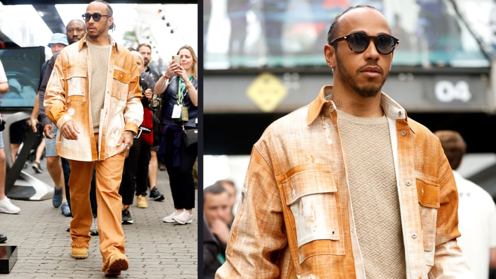
[[[496,204],[484,188],[456,171],[467,151],[460,133],[440,130],[434,135],[441,141],[458,188],[458,229],[462,234],[458,245],[475,278],[489,278],[489,269],[496,268]]]

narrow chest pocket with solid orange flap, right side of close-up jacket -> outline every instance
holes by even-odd
[[[420,207],[420,223],[424,251],[433,252],[436,246],[437,209],[440,206],[440,188],[438,184],[416,179],[418,203]],[[428,255],[434,253],[427,253]],[[433,265],[434,258],[426,259],[427,264]]]

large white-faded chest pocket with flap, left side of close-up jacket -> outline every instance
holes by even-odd
[[[305,170],[295,173],[282,184],[286,204],[295,219],[299,262],[315,255],[344,255],[333,174]]]

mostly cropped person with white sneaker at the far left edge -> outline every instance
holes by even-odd
[[[0,61],[0,94],[8,92],[8,82],[7,76],[5,75],[5,70]],[[3,121],[0,115],[0,120]],[[1,122],[0,122],[1,123]],[[5,123],[3,123],[5,125]],[[5,196],[5,174],[6,174],[6,162],[5,162],[5,149],[3,146],[3,132],[0,131],[0,212],[16,214],[21,211],[21,209],[10,202],[10,199]],[[1,234],[0,234],[1,235]],[[0,238],[7,239],[6,236],[0,236]],[[4,240],[4,241],[5,241]]]

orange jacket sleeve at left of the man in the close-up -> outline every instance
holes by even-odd
[[[277,252],[287,244],[282,210],[272,168],[253,148],[229,236],[226,262],[217,270],[216,279],[280,277]]]

